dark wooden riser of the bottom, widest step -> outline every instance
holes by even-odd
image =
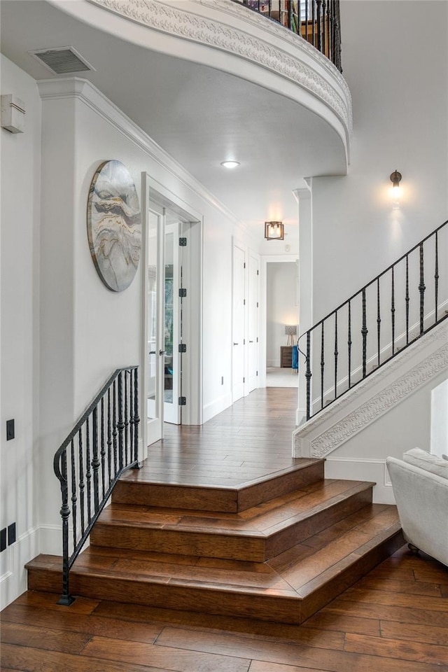
[[[78,574],[73,570],[70,578],[71,594],[91,599],[134,603],[167,609],[196,611],[255,620],[300,624],[328,604],[333,598],[353,585],[358,578],[388,557],[402,545],[401,533],[384,540],[304,599],[272,595],[254,595],[232,589],[199,588],[172,582],[139,582],[132,579],[112,579],[102,575]],[[30,590],[60,594],[61,575],[55,570],[31,568],[28,573]],[[56,601],[56,597],[55,597]]]

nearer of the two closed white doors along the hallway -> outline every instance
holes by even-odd
[[[233,313],[232,313],[232,402],[244,395],[244,316],[245,316],[244,250],[233,248]]]

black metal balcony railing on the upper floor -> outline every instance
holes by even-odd
[[[342,72],[339,0],[234,0],[302,36]]]

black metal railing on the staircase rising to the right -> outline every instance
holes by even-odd
[[[306,365],[307,420],[448,317],[447,223],[300,335],[297,346],[307,339],[306,351],[299,348]]]

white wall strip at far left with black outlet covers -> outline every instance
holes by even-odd
[[[25,102],[25,133],[1,143],[1,514],[17,542],[0,555],[1,608],[26,589],[24,564],[38,550],[38,244],[41,99],[36,83],[1,57],[1,94]],[[6,442],[6,421],[15,439]]]

